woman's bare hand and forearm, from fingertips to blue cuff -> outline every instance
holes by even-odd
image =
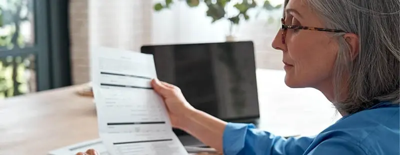
[[[174,85],[151,81],[151,85],[166,105],[172,126],[194,136],[205,145],[222,151],[222,135],[226,122],[194,109]]]

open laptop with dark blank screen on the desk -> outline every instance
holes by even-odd
[[[158,79],[179,87],[196,109],[228,122],[259,118],[252,41],[143,45],[152,54]],[[204,146],[174,129],[184,146]]]

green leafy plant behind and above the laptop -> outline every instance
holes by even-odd
[[[161,11],[168,9],[174,2],[185,1],[187,6],[196,7],[200,3],[204,3],[207,6],[206,16],[210,17],[211,23],[218,20],[229,21],[229,31],[226,35],[226,41],[233,41],[235,36],[233,35],[233,27],[238,25],[241,21],[247,21],[250,19],[248,10],[258,9],[258,13],[261,10],[274,10],[280,8],[282,5],[272,6],[269,0],[263,0],[263,4],[259,5],[255,0],[248,2],[248,0],[242,0],[242,2],[235,2],[234,0],[165,0],[162,3],[158,2],[154,4],[155,11]],[[231,14],[228,10],[229,7],[235,8],[238,13]],[[256,15],[257,16],[257,15]]]

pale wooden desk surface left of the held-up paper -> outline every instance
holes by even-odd
[[[92,99],[79,86],[0,101],[0,155],[47,155],[98,138]]]

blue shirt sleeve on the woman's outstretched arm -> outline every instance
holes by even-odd
[[[314,139],[285,139],[255,129],[252,124],[238,123],[228,123],[222,138],[224,155],[302,155]]]

